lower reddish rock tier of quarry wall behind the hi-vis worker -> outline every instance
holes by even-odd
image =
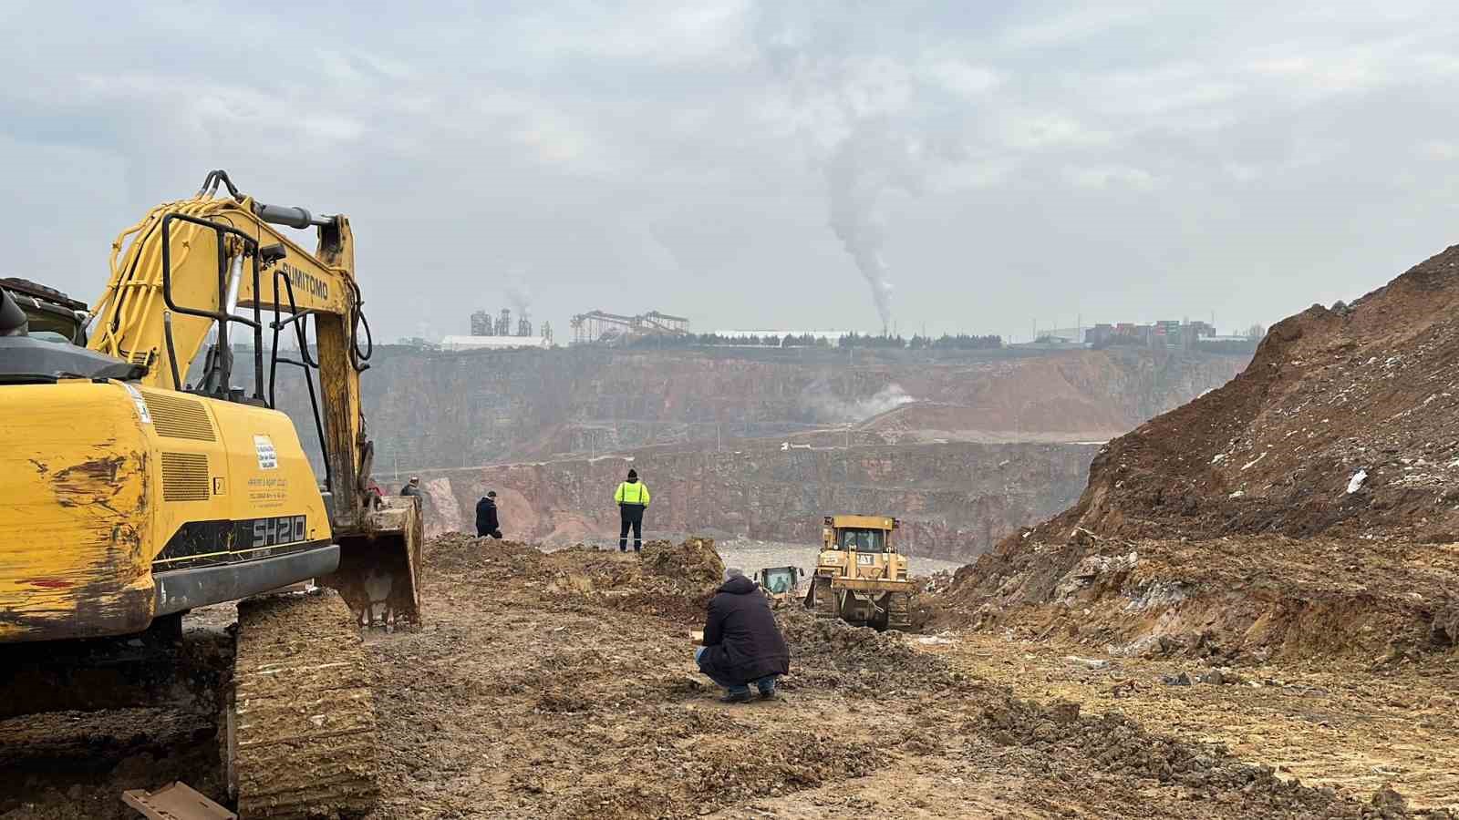
[[[638,452],[423,476],[432,531],[470,527],[496,490],[502,528],[524,541],[617,537],[613,489],[632,465],[654,493],[652,537],[683,533],[814,544],[833,512],[902,519],[912,554],[948,560],[988,550],[1021,524],[1069,505],[1099,445],[922,444],[833,449]]]

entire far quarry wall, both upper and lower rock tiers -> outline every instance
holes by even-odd
[[[967,560],[1074,503],[1088,442],[1245,363],[1128,349],[382,347],[362,385],[375,477],[392,489],[420,474],[432,531],[471,530],[495,489],[514,538],[616,537],[611,492],[632,463],[658,534],[814,543],[826,514],[886,512],[906,521],[909,552]],[[298,371],[279,400],[315,449]]]

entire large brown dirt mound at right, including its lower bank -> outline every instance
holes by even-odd
[[[1112,441],[1074,508],[960,570],[944,603],[1126,638],[1204,607],[1207,641],[1253,652],[1447,648],[1456,308],[1459,247],[1277,324],[1230,384]]]

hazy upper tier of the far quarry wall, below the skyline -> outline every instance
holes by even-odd
[[[376,471],[394,473],[724,448],[867,419],[877,433],[868,442],[1103,441],[1224,384],[1245,362],[1151,350],[381,347],[362,384]],[[314,446],[303,382],[285,372],[279,403]],[[929,404],[935,419],[921,417]]]

